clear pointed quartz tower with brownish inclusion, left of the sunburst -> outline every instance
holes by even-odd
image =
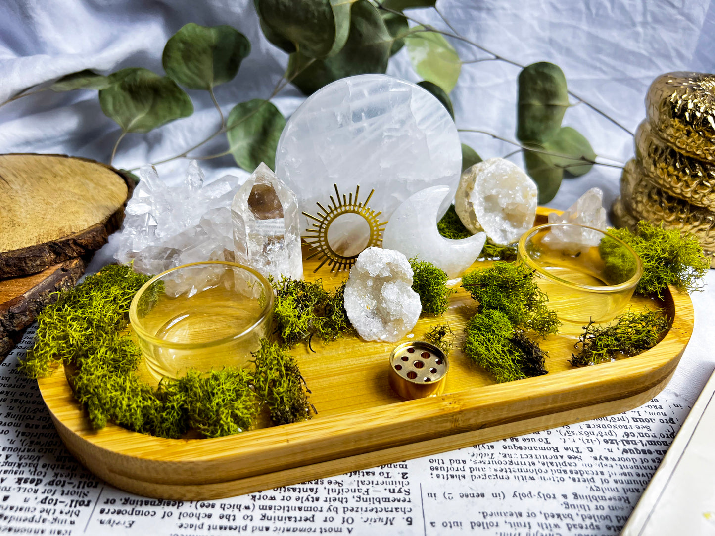
[[[266,277],[302,279],[297,199],[266,164],[239,189],[231,214],[236,262]]]

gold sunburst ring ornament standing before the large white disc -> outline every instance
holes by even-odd
[[[358,255],[363,252],[364,249],[373,246],[379,246],[383,243],[383,231],[385,230],[385,225],[388,222],[380,222],[378,216],[382,212],[375,212],[373,209],[368,207],[368,202],[370,198],[373,197],[375,190],[370,191],[368,199],[364,202],[358,202],[358,194],[360,194],[360,185],[355,188],[355,198],[353,199],[352,194],[345,197],[345,194],[340,196],[340,192],[337,191],[337,184],[333,184],[335,187],[335,198],[330,196],[330,203],[327,204],[327,209],[320,203],[316,203],[320,210],[317,211],[317,216],[303,212],[305,216],[310,219],[315,220],[315,223],[311,227],[305,229],[306,232],[311,233],[309,237],[303,237],[305,242],[316,251],[310,254],[306,259],[312,259],[319,255],[318,260],[322,259],[322,262],[317,265],[317,268],[313,270],[313,273],[317,272],[323,264],[327,262],[330,267],[330,272],[340,272],[342,270],[347,270],[355,264],[355,259]],[[336,201],[337,199],[337,201]],[[330,226],[335,222],[335,220],[344,214],[358,214],[365,219],[365,222],[370,228],[370,237],[368,237],[367,244],[363,249],[355,254],[345,254],[345,252],[337,252],[334,245],[331,245],[327,239],[327,232]]]

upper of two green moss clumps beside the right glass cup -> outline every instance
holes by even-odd
[[[561,325],[546,307],[548,297],[534,282],[534,274],[523,264],[495,262],[465,274],[462,286],[479,302],[480,312],[495,309],[514,326],[533,329],[541,337],[556,333]]]

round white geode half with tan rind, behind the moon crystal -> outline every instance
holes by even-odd
[[[470,232],[512,244],[533,227],[537,194],[536,183],[520,167],[490,158],[464,170],[454,209]]]

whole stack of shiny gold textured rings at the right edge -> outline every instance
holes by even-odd
[[[715,75],[656,78],[634,145],[612,207],[615,223],[633,229],[646,219],[693,234],[715,268]]]

